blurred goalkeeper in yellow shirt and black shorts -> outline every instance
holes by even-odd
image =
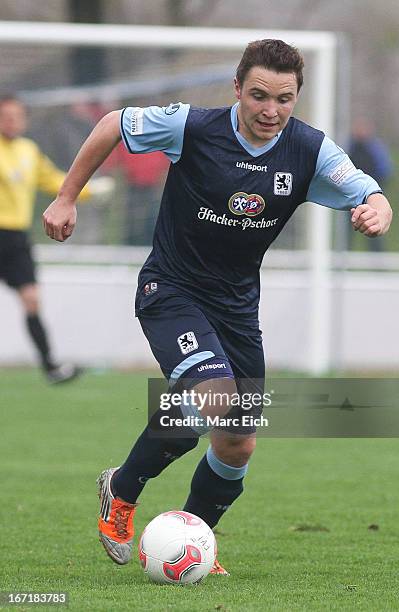
[[[58,364],[51,353],[48,335],[40,316],[39,289],[28,230],[37,190],[55,195],[65,173],[58,170],[30,139],[26,130],[25,106],[14,95],[0,98],[0,279],[17,291],[26,325],[37,349],[41,366],[50,383],[76,378],[79,368]],[[101,179],[82,191],[88,198],[107,189]],[[109,184],[108,184],[109,189]]]

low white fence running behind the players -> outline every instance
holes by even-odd
[[[60,359],[96,367],[156,365],[134,318],[143,255],[145,249],[38,249],[43,313]],[[66,256],[68,265],[48,263],[65,262]],[[309,257],[308,252],[270,251],[265,258],[260,318],[270,368],[309,369]],[[399,256],[347,253],[333,263],[330,367],[394,372],[399,369]],[[337,270],[343,263],[346,270]],[[0,365],[33,363],[21,307],[4,285],[0,310]]]

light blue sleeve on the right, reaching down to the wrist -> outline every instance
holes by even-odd
[[[336,210],[350,210],[375,191],[382,191],[378,183],[358,170],[345,151],[325,136],[307,200]]]

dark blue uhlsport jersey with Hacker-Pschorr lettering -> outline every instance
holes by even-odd
[[[146,127],[143,109],[122,114],[122,135],[131,152],[158,148],[175,162],[139,288],[163,283],[208,308],[255,318],[263,255],[307,200],[311,184],[318,188],[314,177],[324,134],[291,118],[275,142],[254,152],[237,137],[231,108],[182,107],[162,109],[166,121],[175,122],[169,131],[155,113],[155,127]],[[156,135],[150,146],[143,144],[152,137],[146,130]],[[347,162],[339,163],[344,168]],[[356,174],[353,166],[345,172]],[[329,176],[326,188],[338,189],[343,180]]]

